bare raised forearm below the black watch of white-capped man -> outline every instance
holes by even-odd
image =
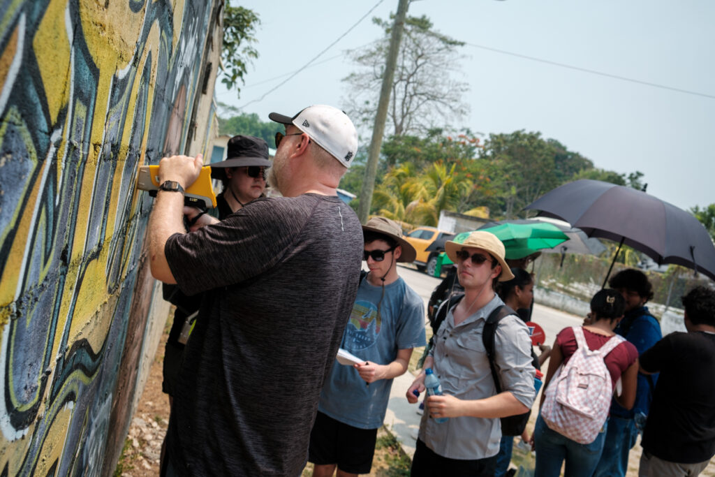
[[[154,200],[152,214],[149,215],[149,265],[152,276],[164,283],[176,283],[164,255],[164,246],[169,237],[177,232],[185,232],[182,222],[183,207],[183,194],[160,190]]]

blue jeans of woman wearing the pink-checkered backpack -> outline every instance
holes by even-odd
[[[596,468],[606,438],[604,429],[590,444],[579,444],[556,431],[552,431],[539,414],[534,428],[536,467],[534,477],[558,477],[561,464],[566,459],[564,477],[588,477]]]

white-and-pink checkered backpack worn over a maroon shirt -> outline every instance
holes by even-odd
[[[613,385],[606,358],[625,341],[614,335],[598,350],[589,350],[583,328],[574,326],[578,349],[548,383],[541,417],[553,431],[581,444],[592,443],[608,417]]]

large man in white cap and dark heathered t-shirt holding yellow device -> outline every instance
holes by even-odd
[[[363,233],[336,193],[358,147],[355,127],[329,106],[270,119],[285,125],[269,177],[283,197],[221,222],[202,215],[199,230],[184,233],[181,192],[200,155],[159,163],[152,275],[204,292],[169,418],[169,476],[300,474],[355,300]]]

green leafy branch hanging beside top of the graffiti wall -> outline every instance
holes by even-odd
[[[243,76],[247,65],[252,59],[258,58],[258,51],[252,46],[255,43],[256,26],[260,19],[252,10],[242,6],[230,6],[226,1],[224,11],[224,34],[221,49],[223,77],[221,82],[228,89],[240,91],[238,82],[244,84]]]

